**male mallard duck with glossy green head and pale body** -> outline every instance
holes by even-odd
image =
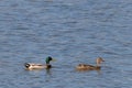
[[[24,66],[26,69],[48,69],[52,67],[52,65],[50,64],[50,62],[53,61],[53,58],[51,56],[46,57],[46,65],[43,64],[33,64],[33,63],[25,63]]]

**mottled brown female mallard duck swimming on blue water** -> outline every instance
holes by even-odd
[[[96,66],[92,66],[92,65],[86,65],[86,64],[79,64],[76,68],[77,69],[86,69],[86,70],[98,70],[98,69],[100,69],[101,68],[101,66],[100,66],[100,64],[102,63],[102,62],[105,62],[101,57],[98,57],[97,59],[96,59],[96,63],[97,63],[97,65]]]

